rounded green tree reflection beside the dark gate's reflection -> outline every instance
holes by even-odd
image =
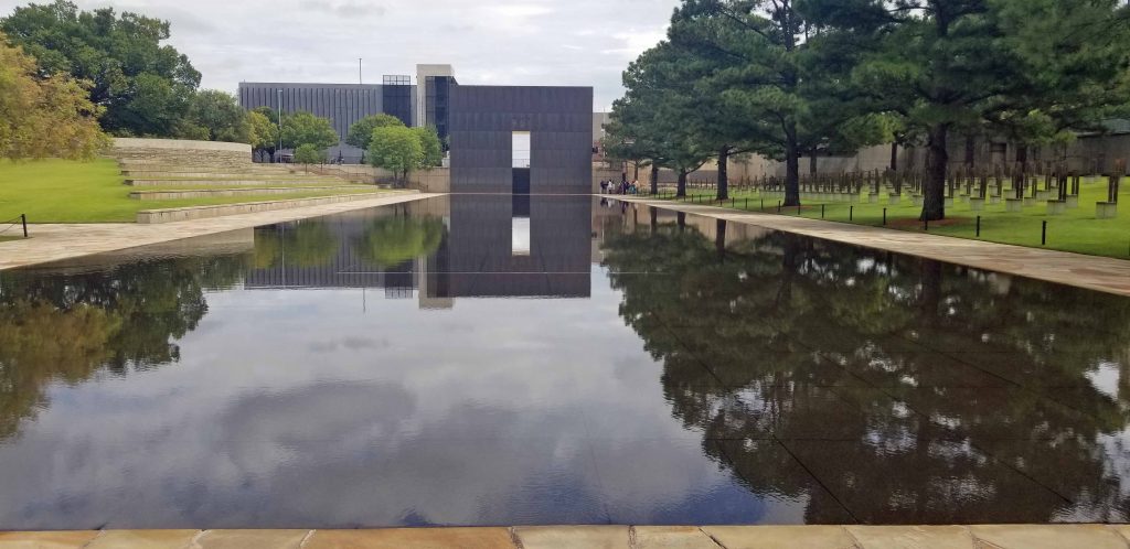
[[[443,242],[443,221],[437,218],[382,217],[365,228],[353,247],[362,261],[382,268],[397,267],[434,253]]]

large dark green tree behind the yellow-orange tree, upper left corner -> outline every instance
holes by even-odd
[[[90,101],[106,110],[101,123],[114,134],[172,136],[200,84],[189,59],[162,45],[168,21],[55,0],[16,8],[0,30],[36,59],[41,76],[92,82]]]

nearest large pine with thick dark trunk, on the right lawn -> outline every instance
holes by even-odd
[[[852,84],[928,149],[922,219],[945,218],[950,133],[1053,139],[1125,104],[1130,7],[1115,0],[812,0],[815,23],[864,37]],[[1113,93],[1106,91],[1112,90]]]

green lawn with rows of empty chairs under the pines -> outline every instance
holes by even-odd
[[[1080,185],[1079,208],[1067,210],[1067,213],[1046,215],[1048,207],[1044,201],[1037,201],[1036,206],[1025,207],[1022,212],[1006,212],[1003,200],[999,204],[989,204],[986,201],[983,211],[971,210],[967,202],[956,202],[954,207],[946,209],[946,221],[944,224],[932,223],[929,233],[1127,259],[1130,258],[1130,190],[1127,186],[1122,185],[1119,217],[1114,219],[1095,218],[1095,202],[1106,200],[1106,180],[1089,178],[1084,180]],[[715,195],[715,192],[713,190],[688,189],[687,194],[692,199],[702,197],[702,200],[710,200]],[[1010,195],[1007,186],[1005,194]],[[776,204],[781,200],[779,194],[766,193],[763,197],[756,191],[746,190],[731,192],[730,195],[736,199],[734,208],[750,211],[760,211],[760,201],[764,198],[764,211],[767,213],[776,213]],[[883,192],[879,202],[876,204],[867,203],[866,192],[861,194],[860,202],[854,204],[809,200],[803,201],[799,215],[819,219],[820,206],[823,204],[826,220],[881,226],[883,210],[886,208],[888,228],[922,232],[922,224],[918,221],[922,208],[912,206],[909,195],[903,197],[901,204],[888,206],[886,192]],[[730,208],[730,204],[731,202],[727,201],[724,206]],[[851,208],[852,206],[854,208]],[[850,221],[849,212],[851,213]],[[798,215],[796,208],[784,209],[781,213]],[[977,216],[981,216],[980,237],[976,236]],[[1043,246],[1041,246],[1042,221],[1048,221],[1048,244]]]

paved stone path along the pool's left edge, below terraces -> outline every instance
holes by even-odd
[[[437,194],[393,191],[370,200],[158,225],[136,223],[28,225],[31,238],[0,243],[0,270],[431,197]]]

